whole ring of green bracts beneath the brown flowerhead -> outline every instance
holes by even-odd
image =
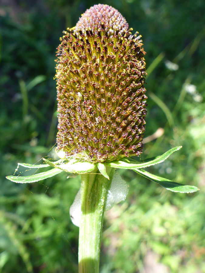
[[[39,173],[39,174],[33,174],[31,176],[7,176],[6,178],[16,182],[16,183],[31,183],[36,182],[39,180],[46,179],[48,177],[52,177],[56,174],[59,174],[62,171],[66,171],[69,173],[77,173],[77,174],[86,174],[91,173],[95,169],[99,170],[100,173],[109,179],[108,174],[106,173],[106,166],[112,167],[112,168],[119,168],[119,169],[130,169],[134,170],[137,174],[140,174],[149,180],[152,180],[159,184],[160,186],[166,188],[167,190],[171,190],[174,192],[181,192],[181,193],[191,193],[199,190],[199,188],[195,186],[190,185],[183,185],[176,182],[173,182],[171,180],[168,180],[163,177],[156,176],[154,174],[150,174],[149,172],[143,170],[142,168],[149,167],[155,164],[162,163],[164,160],[166,160],[173,152],[181,149],[181,146],[174,147],[167,151],[166,153],[162,154],[161,156],[155,157],[154,159],[145,162],[145,163],[138,163],[137,161],[134,163],[133,161],[128,162],[128,160],[122,161],[113,161],[109,163],[90,163],[90,162],[80,162],[74,159],[68,160],[58,160],[56,162],[51,162],[50,160],[43,159],[47,164],[40,164],[40,165],[31,165],[31,164],[25,164],[25,163],[18,163],[18,165],[21,165],[23,167],[29,167],[29,168],[43,168],[43,167],[53,167],[53,169]]]

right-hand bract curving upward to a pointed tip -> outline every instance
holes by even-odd
[[[149,167],[149,166],[152,166],[155,164],[159,164],[159,163],[163,162],[164,160],[166,160],[172,153],[178,151],[181,148],[182,148],[182,146],[174,147],[174,148],[170,149],[169,151],[167,151],[166,153],[163,153],[161,156],[155,157],[154,160],[151,160],[151,161],[145,162],[145,163],[134,163],[133,161],[130,161],[130,163],[127,163],[122,160],[119,160],[119,161],[115,160],[115,161],[106,163],[106,166],[118,168],[118,169],[137,170],[137,169]]]

